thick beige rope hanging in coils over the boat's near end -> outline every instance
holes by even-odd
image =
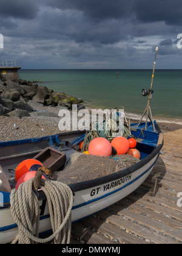
[[[19,229],[19,235],[12,243],[48,243],[54,239],[57,244],[69,244],[72,228],[72,190],[64,183],[41,179],[39,188],[47,197],[53,230],[49,238],[42,239],[38,238],[40,212],[38,198],[32,188],[33,179],[30,179],[19,185],[18,190],[12,190],[11,211]]]

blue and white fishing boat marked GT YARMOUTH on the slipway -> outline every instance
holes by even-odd
[[[136,123],[130,124],[130,128],[132,137],[137,138],[136,149],[141,153],[141,160],[106,176],[76,183],[69,182],[74,198],[72,222],[86,218],[120,201],[140,187],[149,176],[163,147],[163,133],[155,121],[147,123],[147,129],[146,123],[141,123],[140,126]],[[51,137],[0,143],[0,243],[10,243],[19,232],[10,210],[9,185],[10,180],[15,177],[18,164],[25,159],[35,157],[47,147],[58,149],[61,141],[67,141],[78,150],[79,142],[83,140],[85,134],[84,131],[76,131]],[[41,212],[39,233],[44,233],[52,229],[49,207],[42,191],[39,191],[38,198]]]

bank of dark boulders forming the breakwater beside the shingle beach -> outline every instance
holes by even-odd
[[[18,79],[0,82],[0,116],[30,116],[36,107],[71,109],[73,104],[77,104],[79,109],[85,107],[82,99],[30,81]]]

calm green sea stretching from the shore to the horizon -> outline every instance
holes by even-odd
[[[147,97],[141,95],[141,90],[150,88],[152,70],[21,69],[19,76],[82,98],[88,107],[123,106],[127,113],[142,114]],[[153,116],[182,119],[182,70],[156,70],[153,90]]]

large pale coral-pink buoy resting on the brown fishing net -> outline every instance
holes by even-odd
[[[112,146],[106,138],[98,137],[89,144],[89,155],[99,155],[100,157],[110,157]]]

